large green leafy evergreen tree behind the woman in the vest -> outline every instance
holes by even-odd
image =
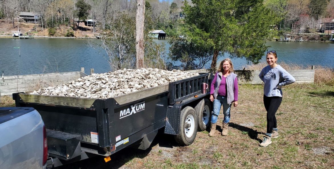
[[[195,44],[211,46],[211,69],[215,70],[219,53],[245,57],[258,63],[268,48],[270,25],[277,22],[262,0],[193,0],[185,3],[186,32]]]

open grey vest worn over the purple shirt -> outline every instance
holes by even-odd
[[[217,99],[218,96],[218,90],[219,86],[221,83],[221,77],[223,73],[222,72],[217,72],[216,76],[216,82],[214,83],[214,93],[213,93],[213,98]],[[231,72],[227,77],[226,77],[226,86],[227,86],[227,104],[231,104],[234,101],[234,93],[233,93],[233,86],[234,86],[234,80],[236,78],[236,74]]]

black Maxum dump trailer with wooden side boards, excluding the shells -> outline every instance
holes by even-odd
[[[13,94],[16,107],[36,109],[47,129],[48,168],[87,159],[109,157],[137,144],[147,149],[158,133],[190,145],[197,131],[209,125],[212,103],[209,73],[173,81],[110,99]]]

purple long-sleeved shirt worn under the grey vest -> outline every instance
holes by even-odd
[[[214,93],[214,84],[217,81],[217,76],[214,76],[214,78],[212,79],[211,86],[210,86],[210,95],[213,95]],[[234,79],[233,94],[234,94],[234,101],[238,101],[238,79],[237,78]],[[227,96],[226,77],[224,76],[221,77],[221,83],[219,85],[218,95]]]

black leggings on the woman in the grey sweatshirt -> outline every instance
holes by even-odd
[[[277,128],[276,122],[276,111],[280,107],[282,102],[282,97],[267,97],[263,95],[263,103],[267,111],[267,133],[272,133],[273,128]]]

